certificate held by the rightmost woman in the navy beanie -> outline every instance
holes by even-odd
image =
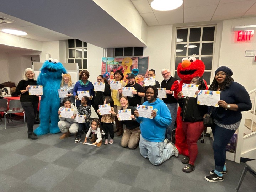
[[[198,90],[197,104],[219,107],[220,91]]]

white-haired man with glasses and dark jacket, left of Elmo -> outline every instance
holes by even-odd
[[[167,127],[167,132],[165,135],[168,139],[170,139],[172,130],[174,129],[176,117],[177,117],[177,106],[178,106],[177,104],[178,101],[174,98],[174,96],[172,96],[171,86],[174,83],[174,81],[177,81],[178,79],[171,76],[169,69],[162,69],[161,72],[164,78],[164,80],[161,83],[161,88],[166,88],[166,96],[167,96],[167,98],[162,98],[162,100],[167,105],[172,118],[172,123],[169,127]]]

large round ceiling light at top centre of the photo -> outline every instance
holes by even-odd
[[[154,0],[151,2],[151,7],[158,11],[169,11],[180,7],[183,0]]]

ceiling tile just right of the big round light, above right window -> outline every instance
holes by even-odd
[[[190,18],[212,17],[217,5],[191,7],[184,9],[184,20]]]

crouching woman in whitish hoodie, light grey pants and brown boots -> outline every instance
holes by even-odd
[[[60,117],[60,121],[58,122],[58,127],[60,131],[63,133],[62,136],[60,136],[60,139],[65,139],[66,137],[69,137],[70,133],[77,133],[78,131],[78,123],[75,121],[75,117],[77,114],[77,109],[71,103],[70,98],[64,98],[62,102],[62,106],[59,108],[58,114],[60,114],[60,110],[62,108],[68,108],[68,109],[73,109],[74,113],[71,118],[65,118],[65,117]]]

